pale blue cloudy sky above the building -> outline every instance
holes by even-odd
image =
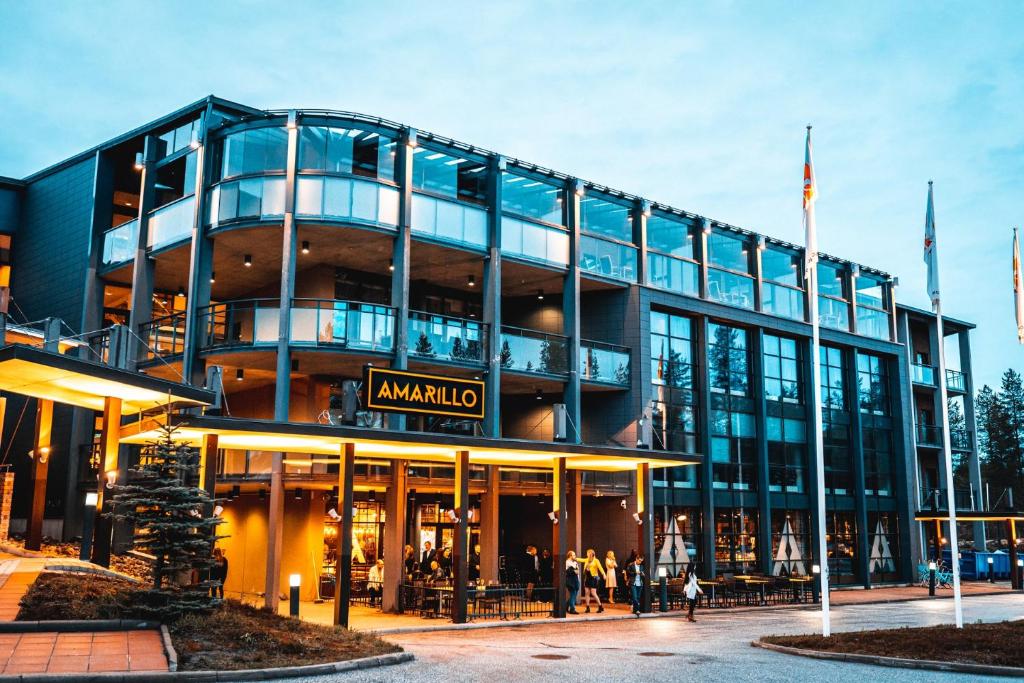
[[[0,175],[209,94],[381,116],[803,242],[977,324],[975,382],[1024,370],[1020,2],[0,2]]]

